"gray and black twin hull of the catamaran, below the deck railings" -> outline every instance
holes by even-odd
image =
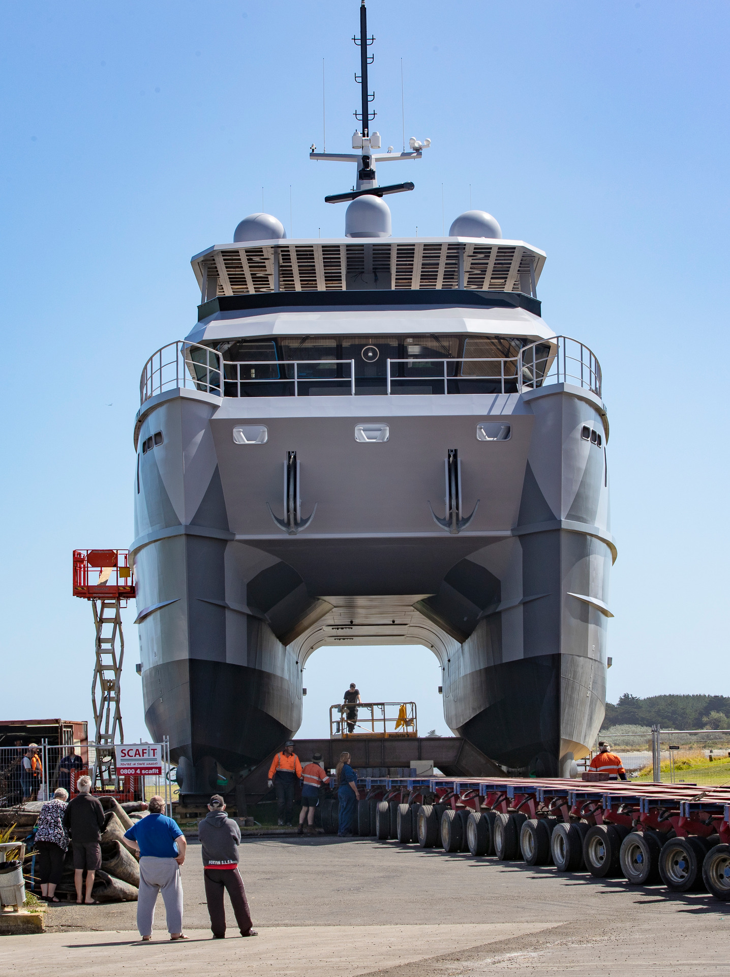
[[[480,442],[506,419],[511,437]],[[359,444],[358,422],[389,425]],[[153,737],[170,737],[184,792],[251,768],[302,718],[302,669],[323,645],[418,644],[443,669],[444,716],[492,760],[565,775],[603,719],[609,528],[600,401],[564,385],[523,395],[145,402],[135,488],[142,685]],[[262,424],[267,441],[232,429]],[[468,529],[435,526],[458,448]],[[286,452],[303,514],[287,535]],[[394,623],[393,623],[394,622]]]

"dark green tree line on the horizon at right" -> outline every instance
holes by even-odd
[[[625,693],[614,705],[606,702],[601,729],[610,726],[653,726],[663,729],[730,729],[730,696],[648,696]]]

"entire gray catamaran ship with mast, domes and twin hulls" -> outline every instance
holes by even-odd
[[[345,236],[251,215],[192,259],[198,321],[144,367],[136,539],[145,719],[182,791],[299,727],[324,645],[423,645],[449,727],[566,774],[604,712],[609,528],[600,367],[541,317],[546,256],[481,211],[393,237],[360,127]]]

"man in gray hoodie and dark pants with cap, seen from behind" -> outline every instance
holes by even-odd
[[[225,907],[223,890],[227,890],[241,936],[258,936],[251,928],[246,890],[238,871],[238,845],[241,831],[225,813],[221,794],[214,794],[208,804],[208,814],[198,824],[198,838],[203,846],[205,898],[214,940],[225,936]]]

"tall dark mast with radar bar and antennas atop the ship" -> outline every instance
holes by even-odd
[[[381,148],[381,134],[370,132],[370,123],[376,116],[376,112],[370,110],[370,103],[375,99],[375,92],[368,91],[368,65],[373,64],[374,56],[368,49],[373,46],[375,37],[368,37],[368,14],[365,7],[365,0],[360,3],[360,36],[353,37],[352,40],[360,49],[360,74],[355,74],[355,81],[361,86],[360,91],[360,111],[354,112],[355,118],[360,122],[361,130],[356,129],[352,136],[352,149],[357,152],[317,152],[312,144],[309,152],[309,159],[326,159],[331,162],[355,163],[357,166],[357,181],[351,191],[346,193],[333,193],[326,196],[325,203],[341,203],[345,200],[354,200],[355,197],[364,196],[371,193],[375,196],[385,196],[386,193],[402,193],[414,189],[410,182],[402,184],[388,184],[385,187],[378,186],[376,165],[394,159],[421,159],[422,149],[428,149],[431,145],[429,139],[420,142],[415,137],[409,141],[410,150],[408,152],[393,152],[389,146],[386,152],[373,152],[373,149]]]

